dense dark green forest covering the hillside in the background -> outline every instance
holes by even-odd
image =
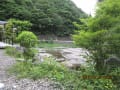
[[[0,20],[28,20],[40,34],[69,35],[72,22],[86,16],[70,0],[0,0]]]

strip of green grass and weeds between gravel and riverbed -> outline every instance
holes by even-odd
[[[9,69],[11,74],[18,78],[31,78],[34,80],[48,78],[59,82],[65,90],[116,90],[110,79],[87,79],[85,75],[98,75],[93,67],[81,68],[79,71],[70,70],[64,65],[46,58],[43,63],[17,63]]]

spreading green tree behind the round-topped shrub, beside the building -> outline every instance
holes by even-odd
[[[31,26],[32,24],[29,21],[9,19],[5,26],[5,38],[15,42],[17,35],[23,30],[30,30]]]

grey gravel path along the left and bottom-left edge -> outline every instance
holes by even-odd
[[[4,88],[0,90],[61,90],[55,88],[55,85],[46,80],[29,80],[29,79],[16,79],[15,76],[10,76],[7,69],[15,63],[15,59],[5,54],[5,51],[0,49],[0,84]]]

